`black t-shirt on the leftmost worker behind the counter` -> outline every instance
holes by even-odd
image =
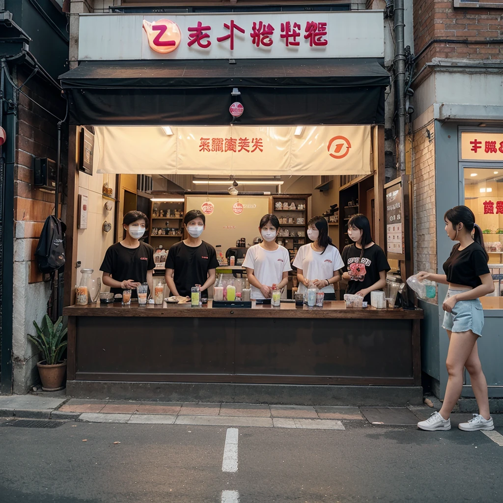
[[[110,273],[117,281],[133,280],[145,283],[147,271],[151,271],[154,267],[154,249],[140,241],[137,248],[126,248],[121,243],[109,246],[100,271]],[[110,291],[122,293],[121,288],[110,288]],[[132,294],[136,297],[136,290],[133,290]]]

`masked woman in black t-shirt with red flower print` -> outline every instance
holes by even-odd
[[[374,242],[369,219],[358,213],[348,222],[348,235],[353,244],[343,249],[346,293],[360,295],[370,302],[370,292],[386,286],[386,273],[391,269],[383,249]]]

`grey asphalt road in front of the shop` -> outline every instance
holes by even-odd
[[[227,428],[0,425],[0,503],[503,501],[503,447],[481,432],[345,427],[239,428],[225,473]]]

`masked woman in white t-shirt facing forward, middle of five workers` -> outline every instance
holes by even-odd
[[[264,241],[251,246],[246,252],[243,267],[251,285],[252,299],[268,299],[272,296],[273,285],[281,290],[288,284],[288,271],[292,270],[290,254],[276,242],[279,228],[280,221],[276,215],[264,215],[259,225]]]

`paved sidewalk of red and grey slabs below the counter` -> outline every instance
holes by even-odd
[[[436,404],[439,405],[439,404]],[[251,403],[140,402],[93,400],[65,396],[0,396],[0,417],[73,420],[91,423],[250,426],[344,430],[353,422],[374,426],[415,427],[436,408],[336,407]],[[453,414],[454,422],[471,414]],[[503,414],[493,415],[495,426],[503,426]]]

